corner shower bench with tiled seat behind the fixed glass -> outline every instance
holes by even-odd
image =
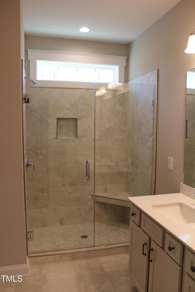
[[[110,203],[119,206],[130,207],[130,201],[128,199],[129,194],[125,191],[121,192],[109,192],[109,193],[97,193],[95,194],[95,201]],[[91,195],[92,200],[94,200],[94,195]]]

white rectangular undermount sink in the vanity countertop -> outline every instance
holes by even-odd
[[[195,209],[184,203],[166,203],[151,206],[177,224],[195,222]]]

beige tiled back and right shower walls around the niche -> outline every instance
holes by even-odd
[[[93,222],[94,90],[28,87],[29,228]],[[157,70],[96,96],[95,192],[154,193]],[[154,112],[154,113],[153,113]],[[56,139],[56,118],[78,119],[77,139]],[[153,162],[152,162],[152,153]],[[93,165],[91,167],[93,177]],[[96,222],[128,220],[128,208],[96,202]],[[112,214],[113,213],[113,214]]]

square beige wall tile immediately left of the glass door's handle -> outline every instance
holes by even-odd
[[[87,186],[85,166],[68,166],[68,186]]]

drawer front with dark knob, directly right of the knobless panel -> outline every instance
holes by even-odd
[[[165,233],[165,252],[167,252],[179,265],[182,265],[183,244],[167,232]]]

